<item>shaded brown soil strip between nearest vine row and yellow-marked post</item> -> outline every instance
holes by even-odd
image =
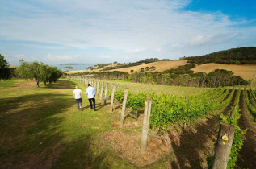
[[[227,97],[230,95],[227,94]],[[227,115],[232,108],[237,96],[237,90],[235,91],[232,100],[229,105],[223,110],[223,113]],[[225,97],[225,98],[227,98]],[[195,129],[189,130],[180,135],[177,140],[172,135],[172,147],[174,149],[174,160],[170,163],[172,168],[205,168],[208,167],[206,158],[212,153],[214,142],[216,140],[217,130],[216,125],[220,123],[219,116],[214,115],[207,117],[204,122],[199,122],[195,126]]]

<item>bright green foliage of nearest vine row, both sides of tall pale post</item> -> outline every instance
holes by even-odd
[[[208,93],[200,95],[178,97],[167,94],[143,93],[138,90],[128,93],[127,106],[136,113],[139,109],[144,108],[145,98],[152,97],[150,127],[153,130],[164,132],[172,124],[193,123],[199,118],[206,117],[208,113],[223,109],[232,99],[234,90],[223,101],[228,93],[229,89],[223,88],[209,90]],[[123,101],[123,99],[124,91],[116,90],[115,100]]]

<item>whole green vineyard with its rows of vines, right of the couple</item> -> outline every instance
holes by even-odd
[[[231,142],[232,149],[229,155],[228,168],[235,167],[246,134],[246,129],[241,130],[238,125],[241,117],[241,106],[239,106],[241,105],[241,93],[244,93],[246,107],[250,113],[254,117],[256,114],[256,97],[253,89],[195,89],[94,80],[81,76],[69,76],[68,79],[78,80],[84,85],[90,83],[96,92],[100,93],[100,98],[104,99],[105,103],[111,97],[111,111],[113,104],[121,108],[125,89],[127,89],[125,106],[128,110],[126,112],[130,116],[134,114],[132,117],[136,120],[138,113],[145,109],[145,98],[152,98],[149,131],[153,134],[149,133],[149,135],[154,137],[161,138],[160,136],[170,132],[170,130],[178,130],[178,133],[184,132],[210,116],[216,117],[214,119],[216,125],[222,122],[234,126],[234,138],[233,144]],[[105,91],[104,98],[103,91]],[[242,109],[246,108],[243,107]],[[207,159],[208,167],[212,167],[214,155],[209,155]],[[239,160],[238,163],[240,163]]]

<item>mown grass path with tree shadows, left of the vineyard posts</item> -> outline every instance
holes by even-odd
[[[10,87],[25,82],[1,83],[10,85],[0,90],[0,168],[136,168],[100,137],[113,130],[111,122],[120,114],[105,113],[108,107],[97,98],[99,110],[88,109],[85,86],[78,111],[72,99],[76,82],[20,89]]]

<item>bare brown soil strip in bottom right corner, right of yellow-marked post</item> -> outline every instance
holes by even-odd
[[[244,145],[238,155],[237,168],[255,168],[256,167],[256,123],[252,122],[248,117],[248,109],[246,108],[244,91],[241,91],[239,101],[239,109],[241,109],[241,117],[239,126],[242,130],[246,130]]]

